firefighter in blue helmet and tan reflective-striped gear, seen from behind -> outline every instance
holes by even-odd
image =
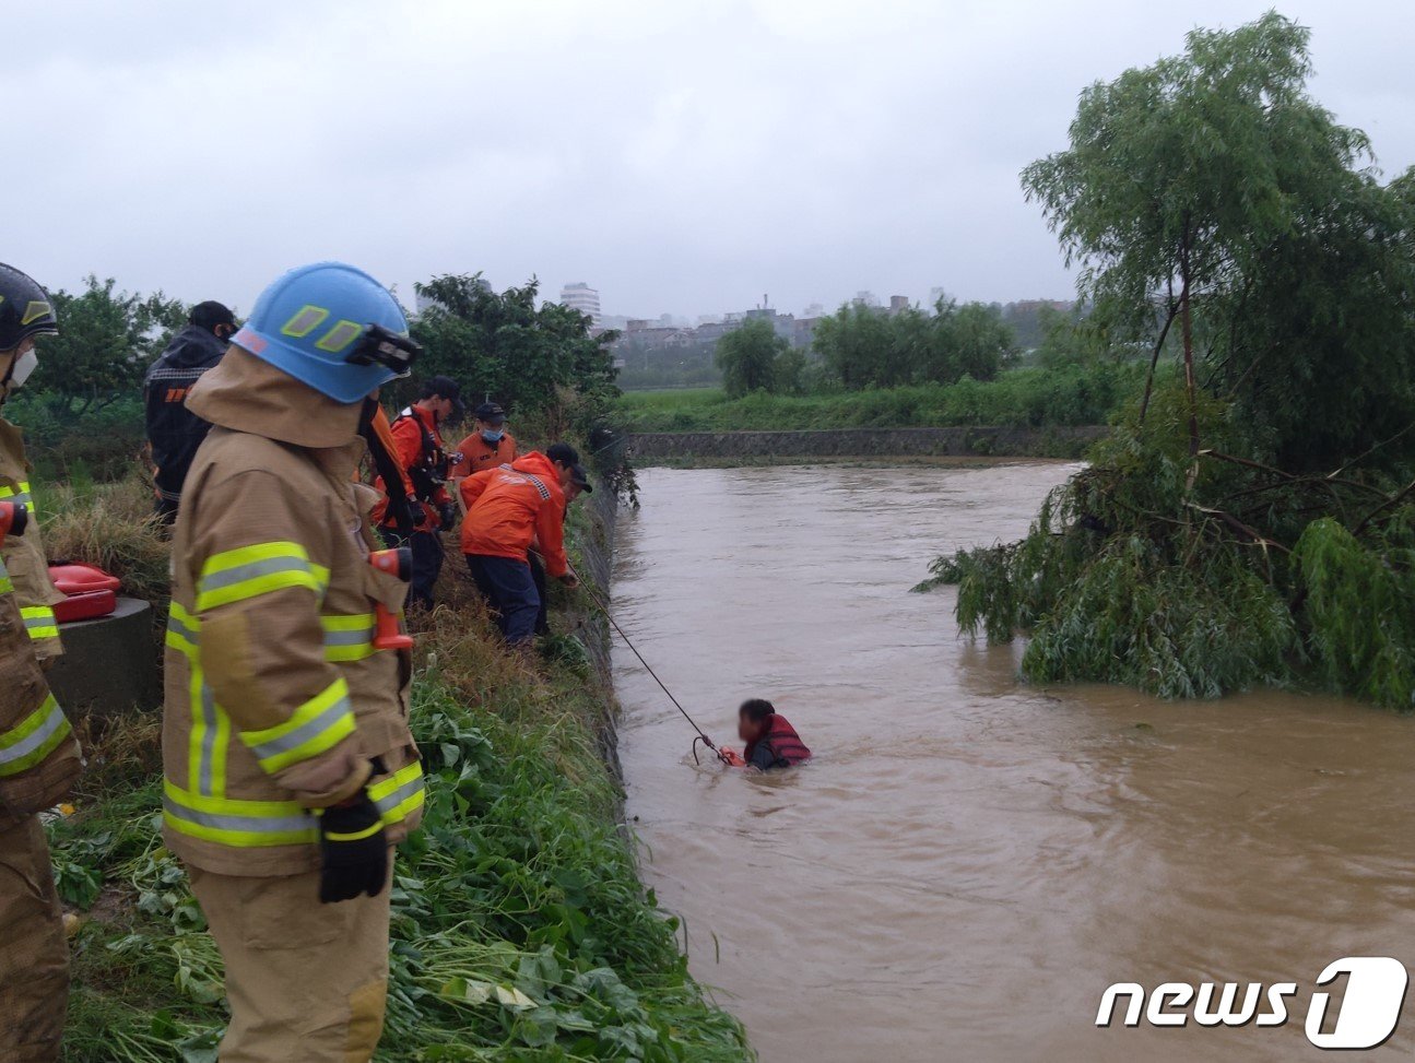
[[[371,563],[354,470],[406,333],[366,273],[296,269],[188,398],[214,427],[173,544],[164,837],[225,961],[224,1063],[362,1062],[382,1032],[391,846],[423,781],[410,653],[375,645],[406,585]]]

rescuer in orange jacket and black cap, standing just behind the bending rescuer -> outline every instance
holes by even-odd
[[[408,592],[413,604],[432,609],[433,587],[441,572],[443,545],[439,532],[457,522],[457,507],[447,493],[453,456],[441,437],[441,426],[461,418],[461,389],[447,377],[430,377],[419,399],[393,418],[398,463],[413,485],[413,532],[402,535],[385,518],[383,536],[413,552],[413,582]]]

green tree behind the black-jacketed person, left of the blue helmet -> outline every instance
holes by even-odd
[[[112,277],[89,275],[83,292],[57,290],[59,334],[40,348],[40,368],[28,388],[74,416],[98,412],[142,386],[147,367],[187,320],[187,307],[161,292],[117,290]]]

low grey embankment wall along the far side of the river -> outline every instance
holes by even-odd
[[[831,432],[642,432],[630,437],[634,460],[802,457],[1080,457],[1104,436],[1082,427],[903,427]]]

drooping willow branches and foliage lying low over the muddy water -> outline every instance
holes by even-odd
[[[1295,476],[1235,457],[1241,426],[1156,396],[1056,488],[1027,538],[940,558],[969,636],[1030,636],[1033,682],[1101,681],[1165,698],[1310,684],[1415,709],[1415,484],[1351,461]],[[1371,456],[1365,456],[1371,457]]]

